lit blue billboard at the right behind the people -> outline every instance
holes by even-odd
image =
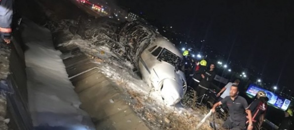
[[[284,97],[280,97],[268,90],[259,88],[257,85],[251,84],[249,86],[249,88],[247,89],[247,94],[251,95],[251,96],[256,96],[258,91],[264,91],[266,93],[266,97],[268,97],[268,103],[279,107],[283,110],[287,110],[291,101],[289,99],[286,99]]]

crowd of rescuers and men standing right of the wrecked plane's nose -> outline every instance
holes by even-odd
[[[211,84],[216,76],[215,64],[209,64],[207,61],[196,60],[189,57],[187,51],[183,54],[189,66],[186,67],[186,76],[188,88],[196,91],[197,104],[203,103],[203,97],[211,88]],[[262,130],[261,126],[264,122],[265,115],[268,110],[266,93],[263,91],[257,92],[254,101],[248,104],[244,97],[239,96],[240,80],[227,83],[220,92],[216,93],[217,100],[211,111],[216,109],[227,109],[228,117],[221,126],[225,130]],[[293,109],[289,108],[285,112],[285,117],[279,125],[278,130],[294,130]]]

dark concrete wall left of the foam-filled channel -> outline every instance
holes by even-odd
[[[13,130],[33,130],[28,110],[27,77],[25,71],[24,47],[16,31],[13,35],[7,84],[12,94],[7,95],[8,124]]]

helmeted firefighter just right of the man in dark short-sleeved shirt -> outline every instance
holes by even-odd
[[[260,130],[266,111],[267,111],[267,101],[268,97],[264,91],[257,92],[257,99],[255,99],[250,105],[249,109],[252,112],[252,122],[254,130]],[[248,119],[248,116],[247,116]],[[246,123],[248,124],[249,121]]]

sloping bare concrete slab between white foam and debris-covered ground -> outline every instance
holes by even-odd
[[[149,130],[124,100],[122,89],[99,71],[96,64],[76,49],[59,48],[73,56],[64,59],[81,108],[92,118],[97,130]]]

